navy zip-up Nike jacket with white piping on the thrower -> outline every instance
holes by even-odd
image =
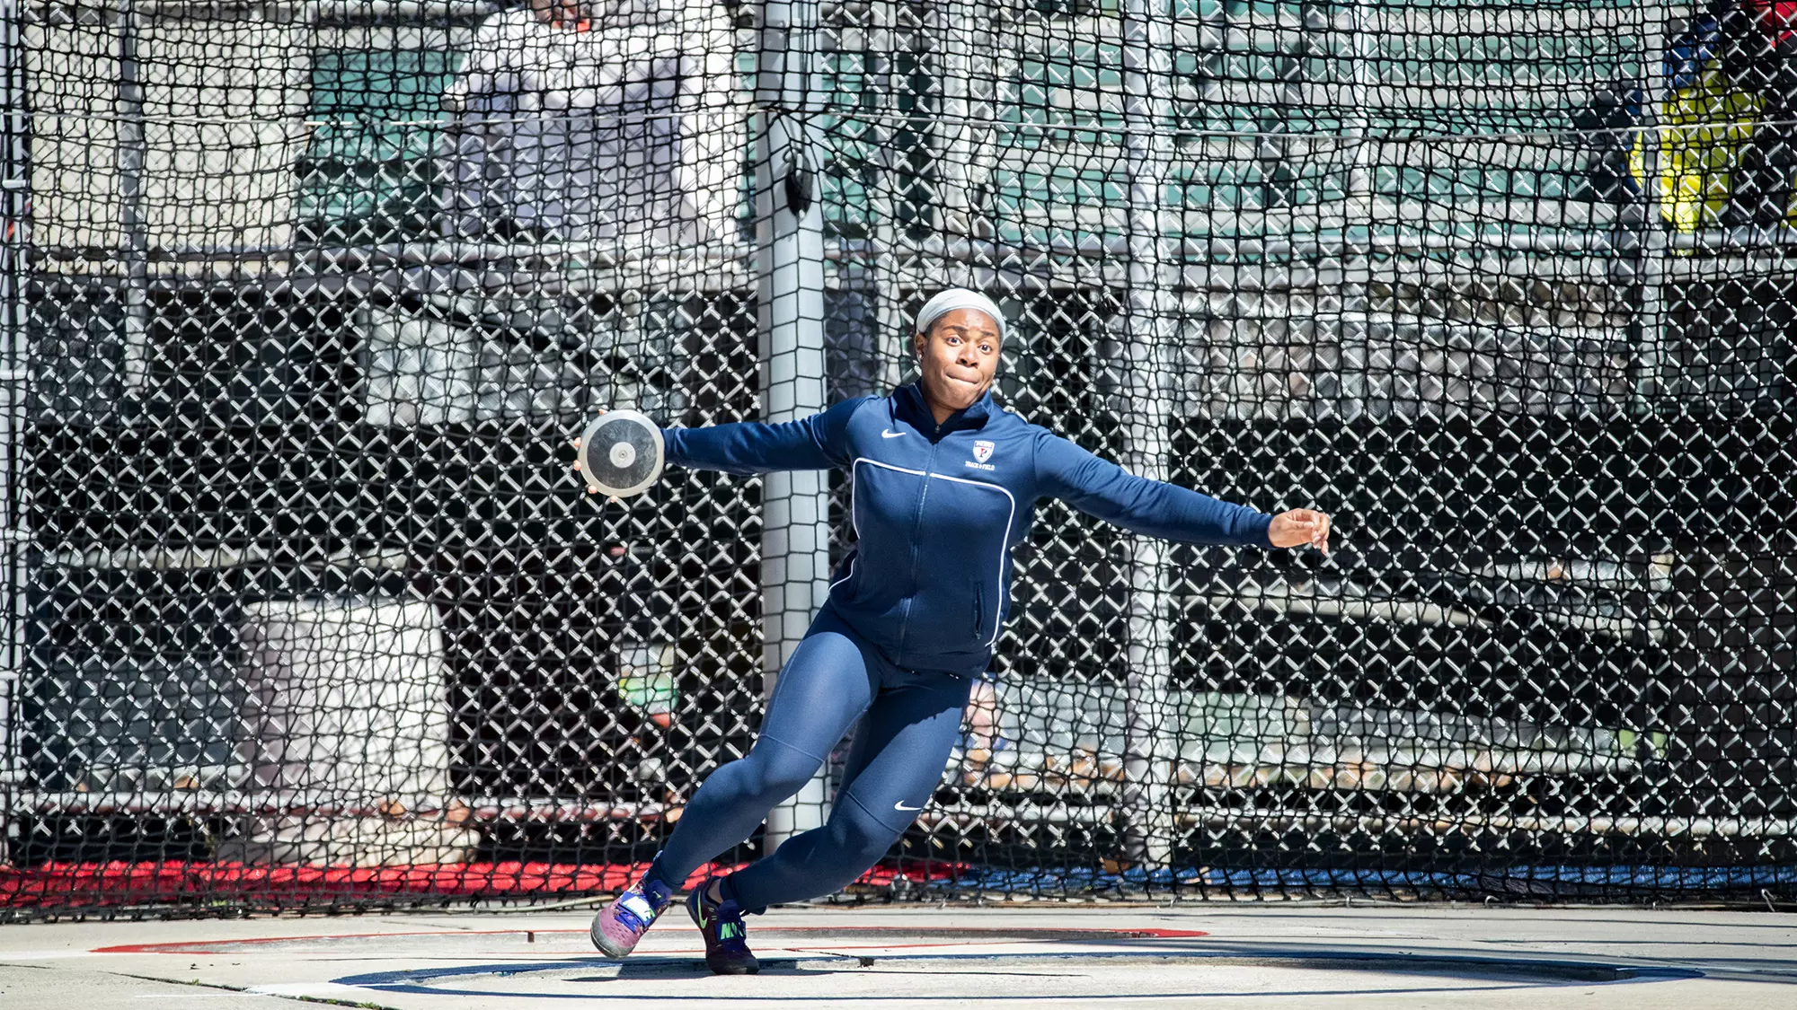
[[[942,424],[909,385],[787,424],[661,435],[667,462],[694,469],[846,469],[857,543],[830,577],[828,606],[909,670],[987,669],[1010,611],[1010,552],[1040,498],[1161,539],[1272,546],[1272,516],[1125,473],[992,394]]]

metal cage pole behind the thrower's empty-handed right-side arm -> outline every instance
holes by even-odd
[[[1125,291],[1127,435],[1123,465],[1148,480],[1168,478],[1173,415],[1175,320],[1161,288],[1161,230],[1172,162],[1168,77],[1172,27],[1166,0],[1123,4],[1123,124],[1129,194],[1129,289]],[[1172,773],[1177,719],[1172,706],[1172,586],[1166,545],[1134,537],[1129,561],[1129,645],[1123,737],[1123,854],[1138,866],[1164,866],[1173,850]]]

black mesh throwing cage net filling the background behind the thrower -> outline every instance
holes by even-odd
[[[570,437],[882,392],[945,286],[1339,545],[1044,503],[850,899],[1797,895],[1786,7],[0,0],[0,915],[616,890],[850,487]]]

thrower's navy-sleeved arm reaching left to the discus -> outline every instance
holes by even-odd
[[[861,399],[846,399],[828,410],[764,424],[710,424],[704,428],[663,428],[667,460],[690,469],[724,473],[773,473],[791,469],[830,469],[848,465],[848,415]]]

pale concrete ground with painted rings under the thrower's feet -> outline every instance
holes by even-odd
[[[713,978],[681,911],[627,961],[588,913],[0,927],[0,1006],[1797,1008],[1797,915],[1515,908],[863,908],[749,920]]]

